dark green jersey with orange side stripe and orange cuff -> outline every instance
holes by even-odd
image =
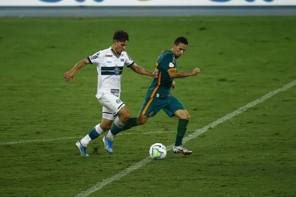
[[[176,57],[171,51],[163,51],[156,63],[159,70],[158,78],[150,85],[146,97],[155,98],[170,95],[170,88],[174,79],[168,74],[171,70],[177,70]]]

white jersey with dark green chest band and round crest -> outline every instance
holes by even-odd
[[[119,56],[110,48],[88,57],[90,64],[96,64],[98,71],[98,91],[96,97],[111,93],[120,97],[120,79],[123,67],[134,64],[132,58],[123,51]]]

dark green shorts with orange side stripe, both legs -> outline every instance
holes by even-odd
[[[146,97],[140,113],[147,117],[153,117],[160,110],[164,110],[168,116],[173,117],[174,113],[180,109],[185,110],[184,105],[172,95],[166,98]]]

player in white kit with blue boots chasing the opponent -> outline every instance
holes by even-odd
[[[83,139],[76,142],[75,146],[80,150],[81,156],[89,156],[86,152],[86,146],[90,141],[104,133],[104,131],[110,130],[113,121],[112,131],[118,131],[123,123],[131,116],[126,105],[120,100],[120,78],[123,67],[131,68],[138,74],[148,75],[154,78],[158,77],[158,70],[152,73],[133,62],[128,53],[124,51],[128,41],[129,36],[127,32],[122,30],[115,31],[113,44],[110,48],[81,60],[73,69],[65,73],[65,82],[69,80],[72,82],[75,72],[86,64],[96,64],[98,72],[98,91],[96,97],[101,105],[103,105],[102,122],[91,129],[89,134]],[[105,149],[109,153],[113,153],[113,138],[114,135],[111,132],[108,132],[103,138]]]

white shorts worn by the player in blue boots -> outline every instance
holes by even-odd
[[[119,97],[112,95],[110,93],[102,94],[98,98],[101,105],[103,105],[103,118],[114,121],[118,115],[118,112],[121,108],[126,106]]]

